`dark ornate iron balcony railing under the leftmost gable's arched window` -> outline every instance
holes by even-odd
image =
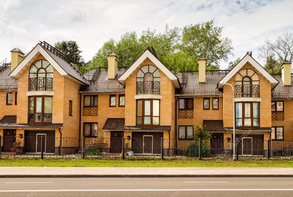
[[[53,78],[33,77],[29,80],[29,91],[53,91]]]

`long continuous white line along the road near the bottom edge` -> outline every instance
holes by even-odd
[[[0,190],[0,192],[60,192],[60,191],[293,191],[293,189],[36,189]]]

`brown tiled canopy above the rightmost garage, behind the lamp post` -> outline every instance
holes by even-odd
[[[233,131],[233,127],[224,127],[223,120],[204,120],[203,125],[207,129],[208,132],[231,132]],[[251,131],[251,132],[271,132],[272,129],[270,127],[259,127],[254,129],[239,129],[235,128],[235,131]]]

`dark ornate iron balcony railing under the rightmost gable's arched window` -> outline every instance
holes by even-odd
[[[235,85],[236,97],[259,97],[259,85]]]

